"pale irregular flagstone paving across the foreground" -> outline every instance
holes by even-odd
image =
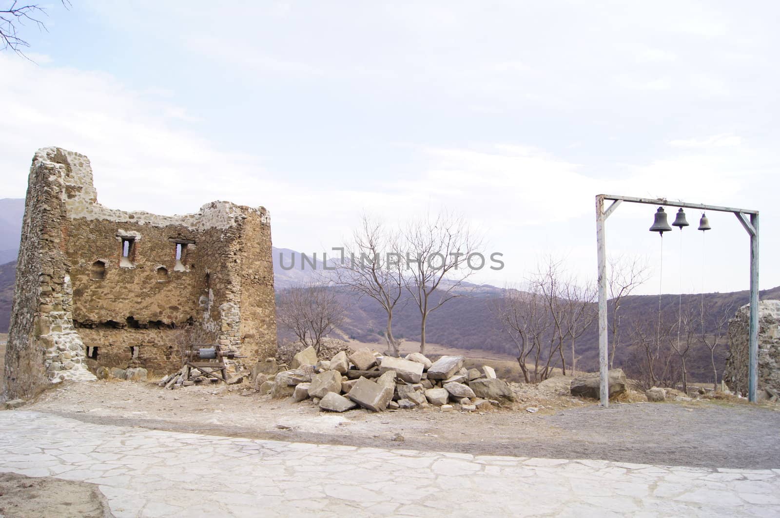
[[[780,516],[780,469],[226,438],[0,412],[0,472],[98,484],[115,516]]]

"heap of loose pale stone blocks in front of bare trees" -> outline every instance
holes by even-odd
[[[512,389],[491,367],[466,369],[462,356],[431,361],[420,353],[404,358],[382,356],[371,349],[339,351],[320,360],[313,348],[293,357],[279,372],[269,358],[253,369],[254,387],[274,398],[311,399],[321,410],[344,412],[362,407],[374,412],[426,408],[487,410],[515,400]]]

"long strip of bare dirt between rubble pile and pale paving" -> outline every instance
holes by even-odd
[[[242,385],[59,385],[21,410],[94,424],[293,442],[695,467],[780,468],[780,407],[730,400],[612,403],[560,396],[566,378],[523,385],[514,409],[323,413]],[[545,404],[546,403],[546,404]],[[538,411],[530,413],[527,407]],[[7,410],[14,411],[14,410]]]

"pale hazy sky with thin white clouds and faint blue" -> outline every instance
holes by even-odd
[[[329,250],[363,211],[440,208],[519,282],[541,255],[594,277],[594,196],[761,211],[780,285],[776,2],[53,3],[0,53],[0,197],[30,158],[92,161],[98,200],[161,214],[263,205],[275,246]],[[611,253],[646,256],[655,208],[623,204]],[[674,208],[668,208],[670,222]],[[748,237],[708,214],[664,238],[665,292],[747,289]],[[702,275],[702,265],[705,270]]]

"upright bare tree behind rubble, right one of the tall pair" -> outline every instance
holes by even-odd
[[[482,268],[485,260],[480,237],[462,217],[444,212],[410,223],[404,241],[404,286],[420,310],[420,353],[424,354],[428,315],[459,296],[463,281],[474,271],[470,265]]]

